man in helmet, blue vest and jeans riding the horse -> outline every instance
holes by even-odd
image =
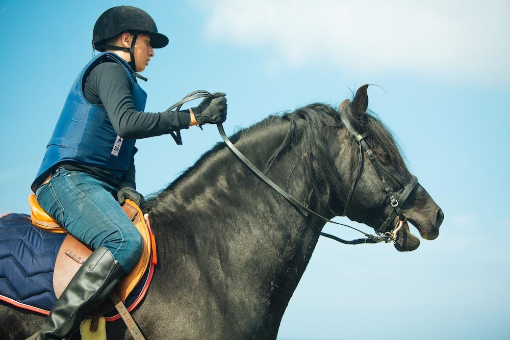
[[[120,206],[125,198],[144,201],[135,190],[136,139],[226,119],[224,93],[187,111],[143,112],[146,94],[136,78],[144,78],[136,72],[154,57],[153,48],[167,44],[154,20],[135,7],[111,8],[94,25],[92,46],[101,53],[71,87],[32,184],[40,206],[94,251],[38,339],[67,338],[140,257],[140,233]]]

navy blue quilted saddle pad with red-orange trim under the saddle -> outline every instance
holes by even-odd
[[[65,236],[35,227],[29,215],[0,217],[0,300],[47,315],[57,301],[53,270]],[[148,285],[152,275],[147,279],[148,276],[149,270],[127,297],[127,306]],[[116,313],[115,310],[106,316]]]

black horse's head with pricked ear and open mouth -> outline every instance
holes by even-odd
[[[413,186],[413,176],[391,134],[378,119],[366,112],[367,87],[362,86],[352,102],[347,99],[339,108],[343,127],[338,138],[342,146],[347,147],[342,147],[335,164],[340,174],[350,176],[342,176],[342,187],[346,190],[341,199],[342,212],[337,213],[346,214],[351,220],[367,224],[381,233],[393,230],[405,215],[422,238],[433,240],[438,237],[443,212],[420,184]],[[345,162],[346,159],[350,162]],[[405,187],[409,189],[404,191]],[[398,201],[397,207],[392,206],[392,203],[396,204],[390,198],[392,195]],[[399,208],[400,217],[397,214]],[[381,226],[386,220],[388,223],[383,230]],[[420,240],[413,236],[406,223],[398,229],[395,241],[399,251],[415,250],[420,245]]]

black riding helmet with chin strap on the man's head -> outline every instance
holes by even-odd
[[[131,48],[105,44],[109,39],[124,32],[130,32],[134,35]],[[101,52],[107,48],[129,52],[133,70],[136,72],[133,51],[138,33],[150,35],[150,46],[152,48],[161,48],[168,44],[168,38],[158,33],[156,23],[147,12],[132,6],[112,7],[97,19],[92,32],[92,47]]]

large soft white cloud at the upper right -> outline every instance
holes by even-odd
[[[404,71],[456,81],[510,80],[510,2],[205,0],[209,39],[296,68]],[[262,52],[261,52],[262,54]]]

